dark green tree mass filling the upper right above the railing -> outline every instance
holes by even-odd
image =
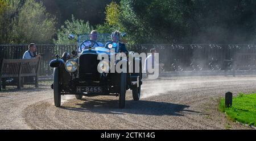
[[[121,28],[136,43],[249,43],[256,1],[121,0]]]

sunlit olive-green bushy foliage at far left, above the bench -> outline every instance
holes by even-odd
[[[34,0],[1,0],[6,10],[0,18],[1,43],[51,43],[55,34],[55,19],[46,12],[42,3]]]

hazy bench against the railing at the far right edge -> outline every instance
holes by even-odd
[[[236,76],[237,70],[255,70],[256,53],[236,53],[234,60],[224,60],[225,72],[233,69],[233,76]]]

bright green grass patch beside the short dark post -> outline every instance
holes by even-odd
[[[234,121],[256,126],[256,94],[239,94],[233,97],[232,107],[225,108],[225,99],[222,98],[218,109]]]

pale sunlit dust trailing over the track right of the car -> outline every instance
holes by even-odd
[[[236,81],[256,81],[256,75],[247,76],[186,76],[186,77],[172,77],[160,78],[158,80],[144,80],[142,84],[141,98],[146,99],[150,97],[157,97],[166,95],[168,93],[176,93],[177,91],[184,91],[189,89],[191,85],[197,88],[209,88],[213,84],[232,85],[230,82]],[[228,89],[227,89],[228,92]]]

